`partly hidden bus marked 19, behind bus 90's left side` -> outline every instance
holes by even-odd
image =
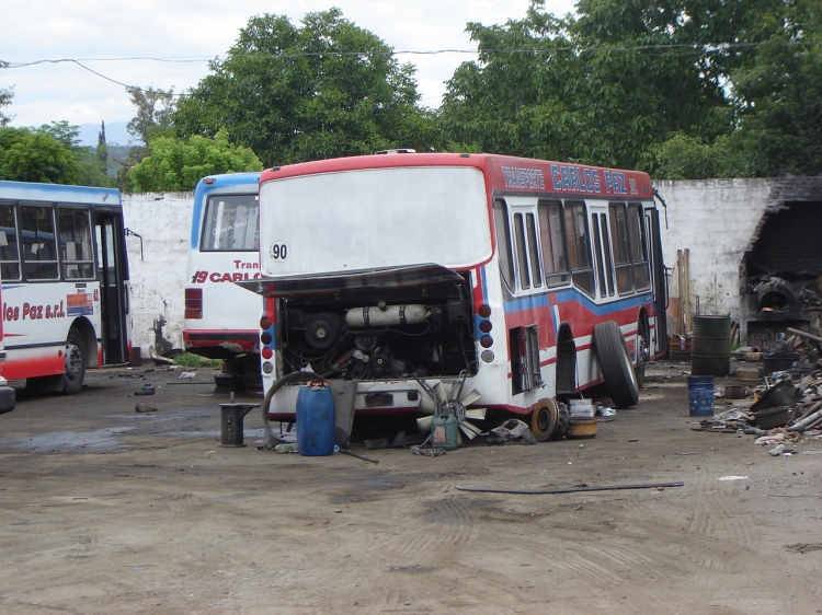
[[[260,173],[202,178],[194,189],[185,350],[226,361],[229,373],[260,388],[260,297],[231,282],[260,277]]]

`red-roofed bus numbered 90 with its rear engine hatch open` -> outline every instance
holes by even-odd
[[[266,391],[310,370],[356,381],[359,414],[453,411],[469,438],[466,417],[516,415],[547,440],[592,385],[636,404],[666,349],[646,173],[387,152],[267,170],[260,211],[263,278],[242,283],[265,298]]]

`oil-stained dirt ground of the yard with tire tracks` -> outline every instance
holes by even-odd
[[[379,464],[255,450],[259,410],[249,446],[220,448],[209,370],[19,390],[0,416],[0,613],[822,613],[822,440],[773,457],[693,431],[686,369],[652,365],[594,439],[354,449]]]

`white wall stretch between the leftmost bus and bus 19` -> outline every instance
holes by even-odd
[[[123,195],[128,229],[142,236],[127,237],[132,277],[132,343],[144,357],[155,344],[153,323],[168,321],[163,337],[183,347],[185,269],[191,234],[192,193]]]

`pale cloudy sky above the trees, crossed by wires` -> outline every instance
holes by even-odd
[[[372,31],[397,51],[476,49],[467,22],[502,24],[522,19],[529,0],[3,0],[0,59],[12,65],[76,59],[114,81],[170,89],[192,88],[207,74],[206,61],[224,56],[250,16],[288,15],[339,7],[345,19]],[[555,14],[573,0],[546,0]],[[162,60],[124,60],[123,58]],[[418,68],[423,104],[439,105],[443,82],[473,55],[400,55]],[[192,61],[183,61],[192,60]],[[71,62],[0,70],[0,88],[13,85],[12,126],[127,121],[134,116],[124,88]]]

